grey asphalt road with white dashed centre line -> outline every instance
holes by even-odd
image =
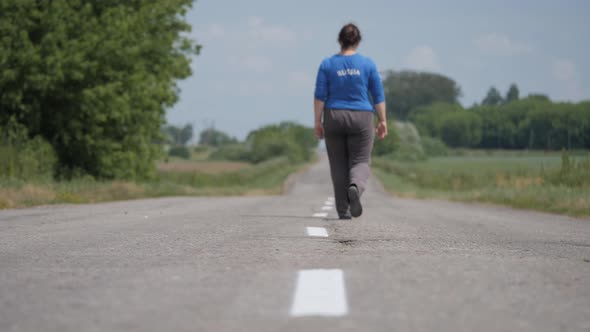
[[[0,331],[590,331],[590,220],[330,196],[0,211]]]

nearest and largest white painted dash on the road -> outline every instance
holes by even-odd
[[[344,316],[348,313],[342,270],[301,270],[291,316]]]

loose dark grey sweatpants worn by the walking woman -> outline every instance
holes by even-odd
[[[338,216],[349,214],[348,187],[365,191],[369,179],[375,129],[373,112],[324,111],[324,136],[330,160]]]

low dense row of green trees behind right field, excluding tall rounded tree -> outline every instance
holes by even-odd
[[[589,149],[590,102],[553,103],[536,97],[467,109],[436,103],[410,113],[423,135],[452,147]]]

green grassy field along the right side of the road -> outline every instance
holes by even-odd
[[[424,162],[375,159],[374,172],[402,197],[485,202],[590,216],[590,156],[469,152]]]

